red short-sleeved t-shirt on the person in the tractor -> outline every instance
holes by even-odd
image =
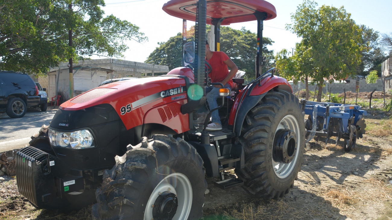
[[[213,51],[211,59],[209,60],[206,59],[206,61],[212,67],[212,71],[209,74],[209,76],[213,83],[221,82],[223,81],[223,79],[227,77],[227,75],[229,75],[229,68],[227,68],[226,63],[223,62],[226,60],[229,60],[229,57],[224,52],[221,51]],[[229,85],[233,87],[232,79],[230,79],[230,81],[227,83],[229,83]]]

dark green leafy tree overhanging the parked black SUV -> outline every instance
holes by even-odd
[[[5,1],[0,6],[0,69],[44,73],[77,56],[122,57],[125,40],[147,39],[127,21],[103,18],[101,6],[103,0]]]

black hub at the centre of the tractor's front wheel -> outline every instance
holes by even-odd
[[[176,214],[177,196],[169,191],[163,192],[156,198],[152,208],[152,216],[158,220],[171,220]]]

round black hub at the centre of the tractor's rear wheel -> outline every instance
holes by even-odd
[[[292,130],[278,130],[272,146],[272,158],[279,163],[288,164],[297,151],[297,135]]]

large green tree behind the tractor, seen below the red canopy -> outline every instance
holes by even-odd
[[[211,30],[211,26],[207,25],[207,31]],[[237,65],[238,69],[246,72],[245,78],[252,79],[256,76],[255,58],[257,37],[255,33],[242,28],[241,30],[232,29],[230,27],[221,26],[220,29],[220,50],[225,52],[227,56]],[[194,27],[187,31],[188,41],[194,40]],[[263,37],[263,56],[267,56],[272,66],[273,50],[268,50],[267,45],[272,45],[274,41],[270,38]],[[146,63],[154,63],[159,65],[167,65],[169,69],[181,66],[182,60],[182,35],[178,33],[176,36],[169,38],[166,42],[158,43],[157,47],[147,58]]]

